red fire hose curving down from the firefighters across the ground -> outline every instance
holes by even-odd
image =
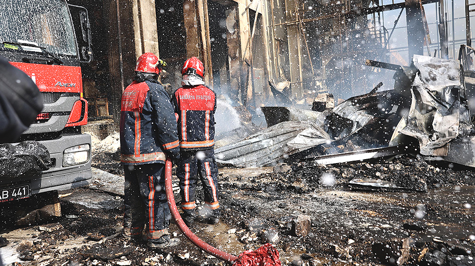
[[[233,263],[234,266],[280,266],[278,251],[270,244],[267,243],[264,246],[258,248],[255,251],[245,251],[239,256],[234,256],[221,251],[215,247],[212,247],[205,241],[201,240],[186,226],[185,222],[180,216],[175,203],[175,196],[172,188],[172,162],[167,159],[165,162],[165,191],[167,192],[168,206],[173,218],[175,218],[178,228],[181,232],[198,248],[204,252],[215,256],[219,259]]]

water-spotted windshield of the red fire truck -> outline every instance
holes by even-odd
[[[73,25],[64,0],[0,0],[0,45],[2,49],[18,50],[10,43],[25,43],[21,50],[55,55],[77,55]]]

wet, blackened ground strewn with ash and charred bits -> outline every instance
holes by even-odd
[[[93,167],[122,175],[116,147],[96,147]],[[350,187],[357,178],[406,190]],[[421,184],[426,192],[418,192]],[[272,242],[283,265],[474,265],[474,192],[473,169],[417,157],[309,168],[221,167],[222,221],[191,230],[235,255]],[[52,229],[2,230],[19,264],[226,265],[196,248],[174,223],[171,231],[181,243],[171,250],[122,237],[121,195],[90,187],[60,194],[63,213],[49,221]],[[78,203],[74,195],[94,198],[98,206]]]

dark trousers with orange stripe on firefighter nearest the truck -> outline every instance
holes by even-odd
[[[124,230],[131,237],[146,226],[149,241],[169,235],[170,209],[165,193],[165,165],[124,165]]]

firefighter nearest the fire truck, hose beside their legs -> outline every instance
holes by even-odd
[[[121,163],[124,165],[124,236],[139,239],[146,226],[151,248],[176,246],[170,238],[165,156],[180,157],[170,98],[158,81],[165,63],[153,53],[137,59],[133,82],[122,94]]]

